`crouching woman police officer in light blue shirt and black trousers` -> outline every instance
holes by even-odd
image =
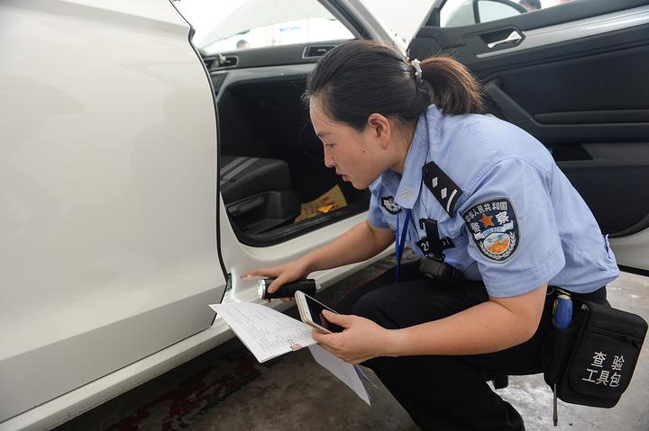
[[[408,62],[367,40],[318,62],[305,94],[324,164],[370,187],[368,220],[325,247],[244,276],[282,283],[377,255],[427,256],[352,292],[321,346],[370,366],[425,429],[523,429],[484,373],[540,373],[552,287],[606,301],[615,257],[536,139],[473,114],[480,87],[450,58]],[[400,277],[399,277],[400,275]]]

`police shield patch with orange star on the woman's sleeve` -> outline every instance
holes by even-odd
[[[509,259],[520,243],[514,205],[507,198],[489,199],[462,214],[480,253],[497,262]]]

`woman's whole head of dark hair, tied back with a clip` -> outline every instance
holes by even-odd
[[[480,84],[446,57],[418,66],[398,51],[372,40],[351,40],[327,52],[306,79],[303,100],[317,103],[335,121],[363,130],[371,113],[414,123],[431,103],[444,113],[480,113]]]

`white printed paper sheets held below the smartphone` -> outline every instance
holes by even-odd
[[[312,328],[305,323],[261,304],[228,302],[210,307],[225,320],[260,363],[308,346],[315,362],[324,366],[361,400],[370,404],[370,396],[365,391],[356,367],[317,346],[311,337]]]

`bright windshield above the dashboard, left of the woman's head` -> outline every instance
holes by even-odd
[[[353,39],[317,0],[178,0],[204,54],[291,43]]]

